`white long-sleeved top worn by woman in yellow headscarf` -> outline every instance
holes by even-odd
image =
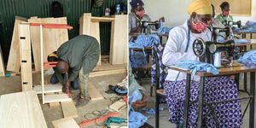
[[[169,33],[169,38],[166,43],[166,47],[164,49],[162,61],[163,64],[166,66],[172,66],[173,64],[177,63],[178,61],[183,60],[198,60],[195,56],[192,44],[195,41],[195,38],[202,38],[204,41],[210,41],[212,32],[207,28],[206,31],[201,33],[192,33],[190,31],[190,40],[189,40],[189,49],[188,52],[184,52],[188,43],[188,35],[189,35],[189,27],[188,21],[186,20],[182,26],[174,27],[171,32]],[[168,81],[175,81],[177,78],[177,71],[168,70],[168,75],[166,80]],[[177,80],[186,79],[186,73],[180,73],[178,75]],[[193,80],[199,81],[198,76],[192,76]]]

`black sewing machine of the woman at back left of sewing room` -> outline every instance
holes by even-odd
[[[137,20],[137,26],[141,27],[141,33],[143,34],[151,34],[152,30],[150,26],[160,26],[160,21],[145,21],[145,20]]]

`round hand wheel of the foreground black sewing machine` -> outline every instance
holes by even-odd
[[[202,55],[205,55],[207,47],[203,39],[196,38],[192,44],[192,49],[196,56],[201,57]]]

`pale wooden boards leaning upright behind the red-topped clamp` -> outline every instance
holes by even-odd
[[[67,17],[60,18],[38,18],[31,17],[28,19],[31,23],[42,24],[66,24]],[[35,71],[41,71],[40,66],[40,33],[38,26],[31,26],[31,41],[32,41],[32,55],[34,58]],[[57,50],[61,44],[68,41],[67,29],[43,29],[44,33],[44,61],[47,61],[47,56]]]

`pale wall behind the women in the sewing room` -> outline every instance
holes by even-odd
[[[166,26],[178,26],[184,20],[189,19],[187,8],[192,0],[143,0],[146,13],[152,20],[159,20],[161,16],[166,18]],[[241,20],[244,24],[247,20],[256,20],[256,0],[252,0],[251,16],[234,16],[234,20]],[[218,9],[216,7],[216,9]]]

